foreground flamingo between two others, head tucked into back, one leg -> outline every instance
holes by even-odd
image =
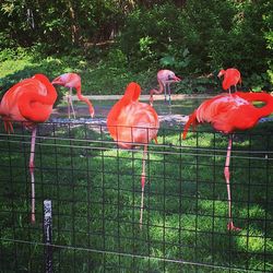
[[[131,82],[122,98],[114,105],[107,116],[107,128],[110,135],[117,141],[118,146],[131,149],[143,144],[142,175],[141,175],[141,213],[140,226],[142,227],[144,187],[145,187],[145,157],[147,144],[156,140],[159,120],[156,111],[149,104],[139,103],[141,87]]]

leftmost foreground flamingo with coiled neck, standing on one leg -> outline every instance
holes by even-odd
[[[0,104],[0,116],[4,121],[8,133],[13,132],[12,121],[21,121],[32,130],[32,145],[29,156],[29,173],[32,178],[32,223],[35,223],[35,177],[34,155],[36,124],[45,122],[57,99],[54,85],[44,74],[35,74],[13,85],[4,95]]]

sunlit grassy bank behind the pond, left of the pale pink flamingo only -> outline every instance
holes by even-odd
[[[157,85],[156,70],[134,72],[111,58],[86,59],[81,55],[45,57],[32,51],[15,56],[10,52],[7,58],[0,55],[0,92],[5,92],[14,83],[35,73],[45,73],[50,80],[66,72],[79,73],[82,92],[86,95],[123,94],[131,81],[142,86],[143,94],[149,94],[147,91]],[[58,87],[58,91],[63,95],[67,88]]]

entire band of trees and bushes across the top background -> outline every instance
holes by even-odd
[[[107,52],[120,69],[197,76],[237,67],[246,86],[269,90],[272,11],[270,0],[5,1],[0,48],[35,46],[94,59],[100,52],[94,44],[112,38]]]

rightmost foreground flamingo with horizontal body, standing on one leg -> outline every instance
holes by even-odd
[[[257,108],[252,102],[263,102],[263,107]],[[209,122],[212,127],[223,133],[229,134],[236,130],[247,130],[254,127],[259,119],[273,112],[273,97],[265,93],[244,93],[223,94],[203,102],[198,109],[189,117],[183,129],[186,139],[189,127],[198,123]],[[228,195],[228,225],[229,230],[239,230],[235,227],[232,215],[232,194],[229,185],[229,161],[233,145],[233,135],[229,136],[224,175]]]

